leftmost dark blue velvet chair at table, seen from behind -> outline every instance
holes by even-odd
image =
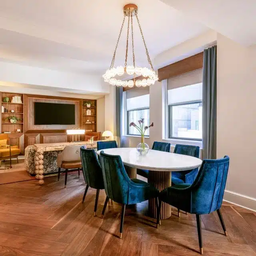
[[[98,198],[100,194],[100,189],[104,189],[104,182],[102,176],[101,166],[98,162],[98,158],[94,149],[86,149],[84,146],[80,148],[80,156],[82,160],[82,170],[84,174],[84,180],[86,182],[86,188],[84,191],[84,197],[82,203],[84,202],[88,188],[96,189],[96,198],[94,204],[94,216],[96,216]]]

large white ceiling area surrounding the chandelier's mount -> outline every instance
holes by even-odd
[[[101,76],[112,60],[126,3],[0,0],[0,61]],[[208,30],[160,0],[136,0],[136,4],[152,60],[160,52]],[[116,65],[124,65],[125,30]],[[147,58],[136,20],[134,44],[137,64],[145,66]]]

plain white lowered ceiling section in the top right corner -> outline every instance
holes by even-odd
[[[162,0],[244,46],[256,44],[256,0]]]

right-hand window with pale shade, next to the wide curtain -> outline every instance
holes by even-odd
[[[202,83],[168,90],[169,138],[202,140]]]

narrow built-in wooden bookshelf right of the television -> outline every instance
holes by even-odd
[[[90,104],[90,106],[88,105]],[[97,100],[83,100],[82,128],[86,132],[97,132]]]

